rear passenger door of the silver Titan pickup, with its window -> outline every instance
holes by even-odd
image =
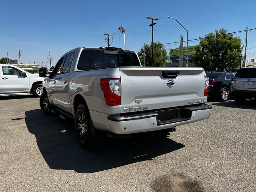
[[[56,75],[56,84],[57,84],[57,103],[60,109],[68,112],[68,105],[70,104],[69,98],[69,76],[70,68],[74,58],[75,52],[71,52],[66,55],[64,64],[61,68],[60,74]]]

